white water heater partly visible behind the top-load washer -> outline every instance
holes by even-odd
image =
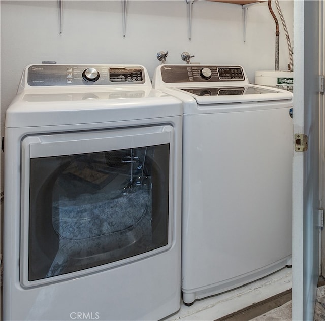
[[[255,84],[294,91],[294,72],[279,70],[258,70]]]

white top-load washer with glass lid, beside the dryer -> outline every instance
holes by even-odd
[[[293,95],[239,65],[160,65],[152,84],[183,101],[185,304],[290,265]]]

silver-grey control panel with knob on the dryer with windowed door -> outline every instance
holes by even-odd
[[[141,66],[40,64],[27,70],[29,86],[144,84]]]

